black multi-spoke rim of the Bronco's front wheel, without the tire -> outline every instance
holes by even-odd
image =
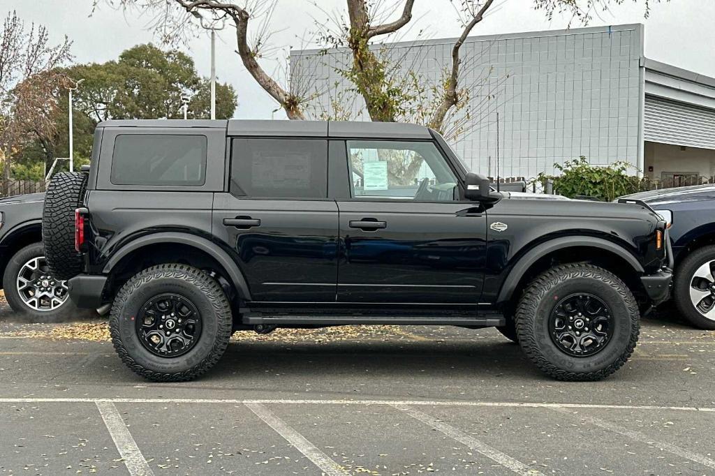
[[[611,339],[613,314],[593,294],[571,294],[556,303],[548,327],[551,340],[561,352],[588,357],[601,352]]]

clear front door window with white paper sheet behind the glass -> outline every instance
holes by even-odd
[[[457,179],[432,142],[347,141],[355,198],[451,202]]]

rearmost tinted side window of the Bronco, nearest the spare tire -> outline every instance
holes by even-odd
[[[114,139],[115,185],[188,185],[206,181],[206,136],[120,134]]]

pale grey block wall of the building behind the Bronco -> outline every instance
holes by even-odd
[[[387,54],[434,84],[450,66],[452,45],[453,40],[399,43]],[[472,86],[470,119],[449,140],[473,170],[495,175],[496,111],[502,176],[551,173],[554,162],[581,155],[593,164],[638,166],[641,25],[476,36],[461,53],[461,81]],[[350,112],[345,119],[369,119],[362,98],[346,94],[350,84],[335,71],[349,64],[345,50],[292,51],[294,89],[305,94],[311,85],[318,93],[312,116],[330,112],[335,103]]]

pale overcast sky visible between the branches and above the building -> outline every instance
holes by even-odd
[[[267,60],[268,71],[285,70],[288,48],[305,47],[302,40],[315,31],[315,20],[323,21],[323,11],[344,11],[345,0],[278,0],[273,16],[272,45],[282,51],[273,51],[275,59]],[[241,0],[237,3],[242,4]],[[389,1],[385,3],[390,3]],[[500,7],[479,24],[473,35],[513,33],[544,29],[564,29],[567,17],[555,16],[547,21],[541,11],[530,8],[530,0],[501,0]],[[415,25],[401,40],[415,39],[418,31],[427,31],[431,39],[458,36],[459,26],[449,0],[417,0],[415,2]],[[651,0],[652,11],[644,19],[643,1],[615,6],[610,12],[594,17],[588,26],[603,26],[626,23],[646,25],[646,56],[700,74],[715,76],[715,0],[671,0],[669,4],[656,4]],[[22,19],[45,24],[53,39],[59,41],[66,34],[74,41],[72,53],[77,63],[102,62],[116,59],[131,46],[154,41],[147,31],[150,18],[141,14],[124,14],[109,6],[101,6],[90,16],[92,0],[0,0],[0,12],[16,9]],[[399,13],[395,12],[395,17]],[[578,24],[572,24],[572,27]],[[277,104],[243,68],[235,54],[234,31],[227,28],[220,32],[217,41],[217,76],[220,81],[232,83],[238,92],[238,118],[266,119],[272,116]],[[425,36],[422,36],[423,38]],[[187,51],[196,61],[199,74],[209,76],[208,36],[201,36],[190,44]],[[278,58],[281,61],[278,61]],[[282,111],[275,118],[284,118]]]

